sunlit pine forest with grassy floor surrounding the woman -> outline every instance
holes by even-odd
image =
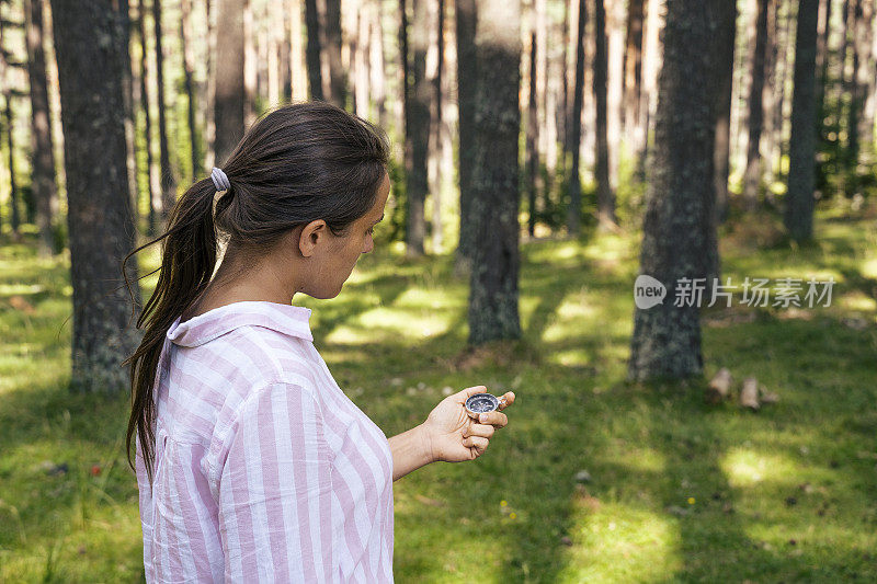
[[[143,577],[160,236],[306,101],[392,150],[375,251],[295,302],[344,392],[387,436],[521,398],[395,485],[398,581],[877,579],[875,10],[0,0],[0,581]]]

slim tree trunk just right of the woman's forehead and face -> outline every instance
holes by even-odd
[[[426,50],[430,47],[428,1],[412,0],[411,7],[413,10],[410,36],[411,93],[406,108],[408,113],[406,142],[411,148],[411,164],[406,169],[406,195],[408,197],[406,253],[409,256],[423,255],[423,238],[426,232],[423,206],[429,191],[426,157],[432,102],[432,88],[426,79]]]

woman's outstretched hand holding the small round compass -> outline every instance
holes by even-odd
[[[462,462],[474,460],[485,454],[490,437],[497,427],[505,427],[509,417],[499,411],[481,414],[483,422],[476,421],[466,412],[466,399],[476,393],[485,393],[485,386],[466,388],[448,396],[430,412],[423,422],[423,430],[431,445],[432,460]],[[514,402],[514,392],[504,396],[504,410]]]

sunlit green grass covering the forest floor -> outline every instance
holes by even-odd
[[[755,249],[737,229],[722,238],[734,283],[838,283],[828,308],[705,310],[707,377],[756,376],[781,398],[758,413],[705,404],[699,379],[625,382],[638,233],[524,244],[524,339],[476,354],[462,351],[467,283],[448,256],[385,249],[337,299],[296,298],[388,436],[444,388],[517,396],[482,458],[394,484],[397,582],[877,581],[875,220],[821,211],[801,249]],[[0,581],[136,582],[127,401],[66,389],[68,266],[0,247]]]

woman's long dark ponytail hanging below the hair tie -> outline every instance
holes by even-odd
[[[132,412],[125,438],[128,465],[136,470],[130,447],[136,431],[150,484],[155,462],[153,391],[159,379],[161,350],[174,319],[195,301],[213,276],[217,249],[213,211],[215,194],[216,187],[210,179],[193,184],[171,209],[164,233],[135,249],[122,262],[123,274],[127,274],[125,264],[132,255],[163,240],[158,284],[137,319],[138,329],[148,322],[143,341],[137,351],[122,363],[123,366],[130,364]],[[130,293],[127,276],[125,284]]]

